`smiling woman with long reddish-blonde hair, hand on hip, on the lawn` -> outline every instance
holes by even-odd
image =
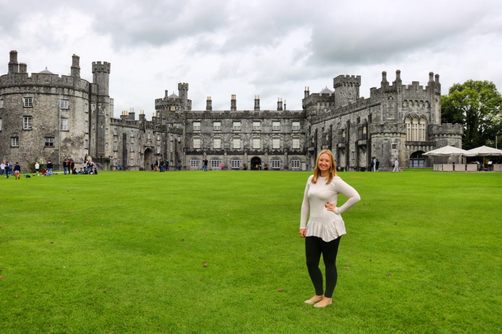
[[[340,193],[348,200],[338,208],[336,200]],[[315,289],[315,295],[305,300],[305,303],[315,304],[315,307],[331,304],[331,295],[338,277],[336,254],[340,238],[346,234],[345,224],[340,215],[360,199],[354,188],[336,176],[333,153],[329,149],[320,151],[314,175],[309,177],[305,187],[300,221],[300,237],[305,238],[307,269]],[[307,217],[309,217],[308,224]],[[319,269],[321,254],[326,267],[325,290],[323,290],[322,272]]]

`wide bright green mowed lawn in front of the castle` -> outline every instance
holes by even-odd
[[[500,332],[502,173],[341,173],[362,199],[325,309],[310,174],[0,179],[0,331]]]

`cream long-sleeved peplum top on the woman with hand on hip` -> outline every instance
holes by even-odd
[[[315,236],[329,242],[347,234],[341,214],[359,202],[361,197],[339,177],[334,177],[329,184],[326,184],[327,178],[322,177],[317,178],[314,184],[311,182],[313,177],[313,175],[309,177],[305,187],[300,229],[307,229],[307,237]],[[347,197],[347,202],[341,207],[336,207],[334,211],[326,209],[327,202],[336,206],[338,194]],[[309,218],[308,224],[307,218]]]

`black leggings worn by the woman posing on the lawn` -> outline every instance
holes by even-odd
[[[338,245],[340,237],[330,242],[323,241],[319,237],[305,238],[305,256],[307,258],[307,268],[309,270],[310,279],[314,284],[315,294],[323,295],[322,273],[319,269],[319,261],[324,260],[326,266],[326,291],[324,296],[331,298],[335,289],[338,274],[336,273],[336,254],[338,253]]]

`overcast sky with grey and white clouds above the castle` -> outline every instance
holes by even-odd
[[[301,109],[305,86],[333,89],[333,77],[360,75],[361,96],[401,70],[404,83],[440,74],[442,93],[467,79],[502,87],[502,2],[185,0],[85,2],[0,0],[0,75],[9,51],[28,72],[67,75],[80,56],[111,63],[110,96],[120,110],[143,109],[188,82],[193,110]],[[3,60],[2,60],[3,59]]]

